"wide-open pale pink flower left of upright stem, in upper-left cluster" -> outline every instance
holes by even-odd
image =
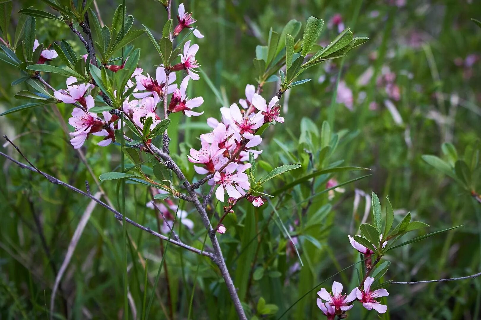
[[[134,72],[137,73],[137,72]],[[146,96],[152,95],[153,92],[156,92],[160,98],[164,96],[164,88],[165,88],[165,69],[164,66],[157,67],[155,72],[155,79],[152,79],[151,76],[147,73],[147,77],[138,74],[135,76],[135,81],[137,82],[137,89],[140,91],[147,91],[141,93],[134,93],[132,94],[138,99],[144,98]],[[169,74],[169,85],[167,87],[167,94],[171,94],[176,90],[177,84],[172,84],[176,81],[176,73],[171,72]]]

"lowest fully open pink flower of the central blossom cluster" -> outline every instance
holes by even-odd
[[[219,185],[215,190],[215,197],[224,202],[224,191],[227,191],[229,197],[236,199],[245,194],[244,190],[249,190],[249,177],[244,171],[250,168],[251,164],[239,165],[237,163],[229,163],[224,172],[216,171],[214,181]],[[237,173],[234,174],[234,171]]]

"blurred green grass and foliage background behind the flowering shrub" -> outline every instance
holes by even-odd
[[[110,23],[118,1],[96,2],[101,19]],[[154,36],[161,34],[166,14],[159,2],[127,0],[126,3],[127,13],[134,16],[134,27],[145,24]],[[173,12],[177,12],[178,4],[174,1]],[[28,6],[46,9],[38,0],[13,1],[11,34],[19,17],[16,12]],[[383,205],[383,198],[389,195],[397,220],[410,211],[416,220],[431,225],[428,231],[406,237],[464,225],[390,252],[386,259],[391,261],[391,267],[384,281],[430,280],[480,271],[480,204],[421,158],[423,154],[443,156],[444,142],[453,143],[458,154],[463,154],[465,148],[479,138],[481,29],[471,21],[471,18],[481,18],[479,1],[195,0],[185,1],[185,6],[193,12],[198,20],[196,25],[205,36],[203,39],[192,37],[200,46],[196,58],[203,72],[199,81],[190,83],[188,92],[190,96],[203,96],[204,104],[199,109],[205,113],[196,119],[175,114],[172,119],[177,125],[169,128],[173,139],[171,152],[179,154],[178,160],[189,178],[193,171],[186,152],[190,146],[200,147],[199,134],[209,130],[205,120],[218,119],[218,109],[223,105],[205,79],[212,81],[228,105],[244,98],[245,85],[256,84],[252,62],[255,46],[266,44],[271,26],[280,32],[289,20],[297,19],[304,27],[307,17],[313,15],[325,21],[321,45],[337,36],[340,31],[334,22],[339,21],[350,27],[354,36],[371,39],[345,58],[310,69],[305,77],[312,81],[291,89],[281,100],[285,124],[272,126],[263,135],[264,152],[259,160],[274,167],[294,163],[286,152],[289,150],[295,154],[294,160],[299,157],[298,160],[303,161],[305,154],[301,155],[303,148],[299,147],[298,140],[309,126],[307,119],[319,131],[323,121],[328,120],[331,130],[340,136],[331,160],[371,169],[372,176],[346,185],[346,191],[335,193],[332,200],[327,193],[314,199],[308,210],[312,215],[321,216],[319,224],[305,234],[291,234],[299,236],[298,249],[304,267],[294,270],[298,260],[295,254],[289,251],[286,254],[287,240],[279,227],[280,223],[286,227],[295,225],[296,214],[302,211],[295,201],[290,202],[289,195],[278,209],[280,221],[270,224],[260,239],[258,232],[272,216],[272,209],[267,205],[256,209],[254,214],[246,201],[238,206],[237,215],[226,219],[228,233],[219,238],[234,281],[244,291],[241,300],[250,316],[277,319],[315,284],[358,259],[346,235],[354,234],[354,226],[363,218],[363,192],[369,195],[375,191]],[[332,21],[333,18],[337,21]],[[85,54],[85,48],[66,25],[38,19],[37,28],[40,42],[49,44],[67,39],[77,54]],[[153,74],[152,66],[160,61],[152,43],[147,36],[141,36],[133,44],[141,48],[139,66]],[[59,65],[61,61],[57,59],[51,64]],[[26,89],[25,83],[10,85],[19,77],[17,70],[3,62],[1,68],[0,113],[22,104],[13,96]],[[338,76],[336,101],[333,91]],[[47,80],[57,89],[65,85],[60,77]],[[270,99],[277,91],[276,83],[267,83],[263,96]],[[92,177],[118,169],[119,148],[99,147],[94,142],[100,140],[91,137],[83,148],[86,166],[62,129],[60,118],[66,121],[70,112],[71,106],[60,104],[58,111],[46,106],[3,116],[0,132],[15,138],[14,142],[38,168],[82,190],[87,180],[95,193],[99,189]],[[72,130],[68,124],[67,128]],[[8,144],[0,150],[17,157]],[[266,169],[267,164],[261,167]],[[19,169],[4,158],[0,158],[0,166],[0,319],[44,319],[55,273],[89,201],[51,185],[38,174]],[[346,173],[334,176],[338,181],[354,177]],[[293,178],[296,177],[287,175],[285,179]],[[330,177],[318,182],[317,191],[325,188],[326,178]],[[276,183],[283,184],[280,180]],[[116,184],[107,181],[101,187],[118,207]],[[149,200],[146,191],[146,187],[127,185],[127,214],[156,229],[155,213],[145,207]],[[356,194],[361,198],[357,207],[354,206]],[[191,231],[184,228],[178,233],[185,242],[200,248],[205,235],[202,223],[192,208],[185,209],[196,226]],[[161,254],[157,238],[131,226],[128,233],[136,243],[135,247],[130,245],[128,257],[130,296],[137,313],[134,308],[131,310],[132,315],[139,317],[143,263],[145,258],[149,260],[149,278],[153,279]],[[250,244],[247,249],[244,246],[251,238],[258,240],[255,244],[260,243],[257,249]],[[55,317],[121,318],[122,252],[121,226],[110,212],[95,207],[63,276]],[[172,246],[166,263],[168,277],[164,269],[152,305],[152,319],[186,319],[194,282],[194,319],[233,317],[222,277],[210,261]],[[357,281],[354,269],[335,279],[342,281],[346,291],[349,283]],[[323,286],[329,288],[330,285],[331,280]],[[429,285],[392,284],[387,289],[390,296],[383,301],[388,305],[388,313],[381,315],[382,319],[480,319],[480,279]],[[322,318],[316,306],[317,290],[285,317]],[[276,305],[278,313],[259,314],[256,306],[260,297]],[[378,315],[357,305],[350,316],[376,319]]]

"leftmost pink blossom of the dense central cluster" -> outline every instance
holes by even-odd
[[[200,166],[194,166],[195,172],[200,175],[205,175],[210,173],[214,173],[216,170],[220,169],[227,162],[227,158],[225,158],[222,154],[226,149],[219,149],[219,145],[217,143],[213,143],[210,145],[206,141],[202,141],[202,148],[199,151],[195,149],[190,149],[190,155],[188,155],[188,159],[192,163],[203,164],[205,168]],[[225,158],[221,161],[219,158]]]

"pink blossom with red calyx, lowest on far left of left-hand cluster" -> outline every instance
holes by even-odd
[[[72,110],[72,117],[68,119],[68,123],[75,128],[75,131],[70,133],[70,135],[74,136],[70,143],[75,149],[80,148],[84,144],[89,133],[100,131],[103,125],[102,121],[96,119],[96,113],[88,111],[94,106],[94,100],[91,95],[86,98],[86,106],[87,112],[76,107]]]

